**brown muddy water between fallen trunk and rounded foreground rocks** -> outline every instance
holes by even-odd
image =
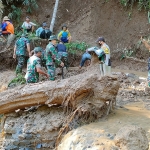
[[[88,128],[101,129],[106,134],[115,134],[125,125],[142,127],[147,132],[150,144],[150,111],[144,108],[142,102],[130,103],[123,108],[117,108],[109,117],[88,125]]]

